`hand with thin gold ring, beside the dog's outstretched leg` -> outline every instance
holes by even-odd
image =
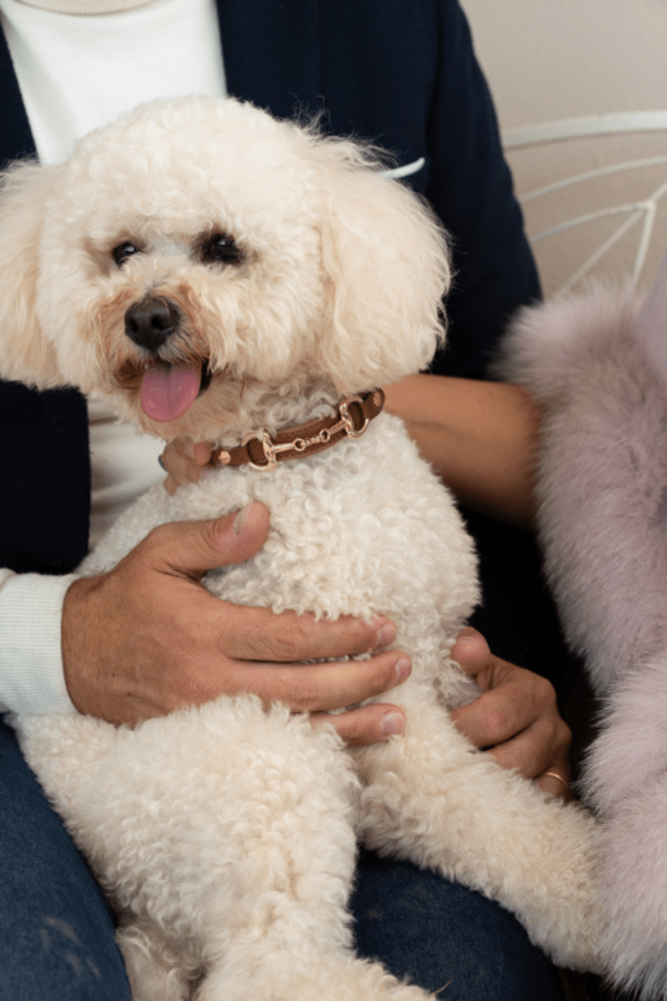
[[[559,716],[553,685],[494,657],[484,637],[470,627],[459,634],[451,656],[482,690],[478,699],[451,714],[459,730],[504,768],[517,769],[545,792],[567,798],[572,735]]]

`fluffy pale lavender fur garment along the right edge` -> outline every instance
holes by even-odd
[[[585,776],[604,818],[602,955],[611,977],[646,999],[667,997],[663,317],[629,288],[598,285],[526,310],[500,366],[544,406],[547,572],[567,639],[605,705]]]

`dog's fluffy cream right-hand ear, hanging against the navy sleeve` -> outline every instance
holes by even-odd
[[[322,254],[330,298],[320,361],[344,392],[429,363],[444,336],[446,236],[411,191],[369,166],[353,143],[320,140]]]

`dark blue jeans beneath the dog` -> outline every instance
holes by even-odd
[[[0,858],[0,998],[129,1001],[111,909],[3,724]],[[447,984],[443,1001],[562,1001],[507,911],[433,873],[364,852],[352,908],[359,953],[432,991]]]

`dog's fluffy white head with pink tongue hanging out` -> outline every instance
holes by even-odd
[[[159,101],[5,176],[0,375],[214,438],[248,385],[348,394],[424,367],[448,282],[431,213],[362,147]]]

